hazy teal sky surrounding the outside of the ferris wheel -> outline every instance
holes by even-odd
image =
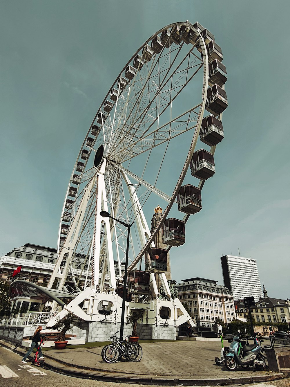
[[[56,247],[75,159],[118,73],[162,27],[198,21],[222,47],[229,107],[203,209],[170,252],[172,278],[221,284],[220,257],[240,251],[257,260],[268,296],[290,298],[290,2],[3,0],[1,8],[1,255],[27,242]]]

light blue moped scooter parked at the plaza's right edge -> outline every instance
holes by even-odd
[[[242,347],[240,337],[234,336],[230,344],[229,352],[225,358],[225,366],[229,371],[235,371],[237,366],[243,368],[247,366],[256,366],[259,370],[264,370],[266,363],[263,356],[260,356],[262,347],[258,344],[256,337],[249,337],[254,340],[252,345]]]

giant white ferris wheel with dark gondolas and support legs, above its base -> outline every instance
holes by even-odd
[[[117,291],[124,223],[133,223],[128,272],[159,273],[168,293],[166,251],[154,238],[162,229],[167,250],[185,242],[185,223],[200,211],[201,189],[215,173],[227,107],[222,59],[213,34],[186,21],[157,31],[122,68],[73,167],[48,287]],[[152,230],[148,221],[157,204],[164,211]]]

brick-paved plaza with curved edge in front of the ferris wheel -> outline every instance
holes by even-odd
[[[50,369],[67,375],[143,384],[238,384],[283,377],[271,371],[238,368],[229,372],[225,366],[217,366],[215,357],[220,355],[217,341],[150,342],[143,343],[142,348],[143,358],[138,363],[126,360],[105,363],[101,357],[102,347],[44,350],[44,356]],[[26,352],[21,348],[17,351]]]

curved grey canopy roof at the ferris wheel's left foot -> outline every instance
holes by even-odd
[[[66,293],[64,291],[44,288],[43,286],[36,285],[29,281],[18,279],[12,282],[10,285],[10,298],[14,297],[30,297],[41,300],[45,304],[49,300],[56,301],[59,305],[65,305],[62,301],[65,299],[75,298],[74,295]]]

